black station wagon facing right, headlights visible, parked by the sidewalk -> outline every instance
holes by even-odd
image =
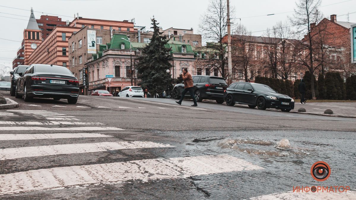
[[[246,104],[250,108],[257,106],[260,110],[266,108],[281,109],[289,112],[294,109],[294,99],[279,94],[267,85],[258,83],[232,83],[224,92],[226,105]]]

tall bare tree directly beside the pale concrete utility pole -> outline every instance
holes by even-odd
[[[203,40],[207,43],[205,47],[196,49],[201,52],[198,57],[204,57],[204,59],[198,59],[196,64],[202,70],[218,69],[221,76],[226,79],[228,76],[226,44],[224,44],[227,35],[226,0],[210,1],[206,14],[201,17],[199,30]]]

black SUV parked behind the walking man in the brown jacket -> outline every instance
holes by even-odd
[[[194,96],[198,102],[203,99],[216,100],[218,104],[224,103],[224,90],[227,88],[227,84],[224,78],[214,76],[197,75],[193,76]],[[184,90],[184,84],[179,83],[174,85],[173,98],[180,99],[180,94]],[[185,94],[185,97],[190,97],[189,92]]]

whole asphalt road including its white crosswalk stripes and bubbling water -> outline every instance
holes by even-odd
[[[5,94],[5,93],[3,93]],[[80,96],[0,110],[0,199],[356,199],[356,119]],[[19,135],[26,134],[26,135]],[[287,139],[289,141],[283,140]],[[331,175],[316,181],[316,161]],[[292,193],[293,186],[350,186]]]

